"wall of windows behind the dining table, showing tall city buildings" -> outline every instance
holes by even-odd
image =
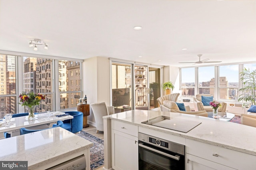
[[[16,64],[18,61],[23,64]],[[0,117],[4,117],[6,113],[26,111],[24,107],[18,105],[18,96],[22,91],[46,95],[45,100],[42,100],[36,108],[38,113],[45,112],[48,105],[52,110],[76,107],[78,99],[82,97],[80,96],[81,61],[60,61],[62,67],[56,73],[59,76],[59,84],[54,81],[54,69],[58,70],[54,67],[54,62],[59,60],[50,57],[47,59],[0,54]],[[56,96],[56,92],[65,97]],[[56,103],[60,107],[56,108]]]

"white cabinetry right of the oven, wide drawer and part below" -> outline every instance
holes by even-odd
[[[255,156],[186,139],[186,170],[255,169]]]

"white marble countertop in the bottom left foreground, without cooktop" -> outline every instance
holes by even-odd
[[[55,127],[0,140],[0,160],[28,161],[28,169],[36,169],[92,145],[66,129]]]

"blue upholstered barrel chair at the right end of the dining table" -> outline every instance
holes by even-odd
[[[77,133],[82,131],[83,129],[83,113],[81,111],[64,111],[65,113],[69,113],[69,115],[72,115],[73,119],[64,120],[63,128],[72,132]],[[56,126],[56,124],[53,124],[52,126]]]

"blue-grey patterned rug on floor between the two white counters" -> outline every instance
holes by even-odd
[[[104,141],[85,131],[81,131],[77,135],[93,143],[90,149],[91,170],[104,165]]]

